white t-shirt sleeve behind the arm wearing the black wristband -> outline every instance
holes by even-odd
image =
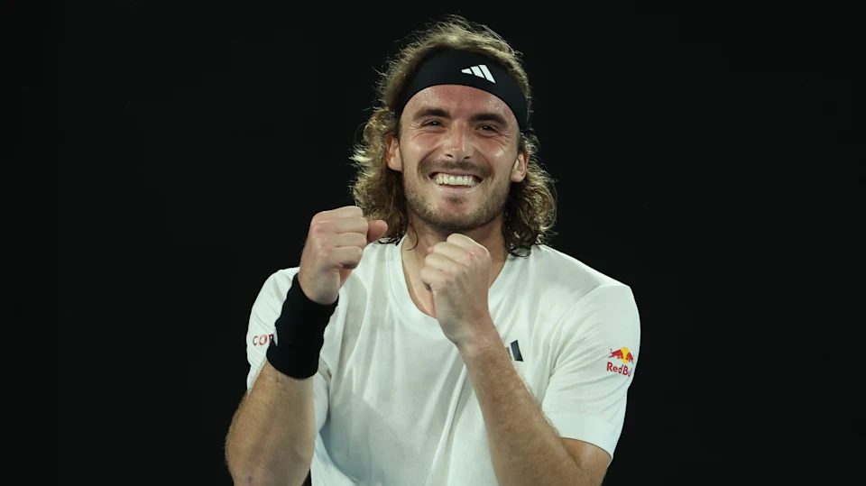
[[[246,359],[250,371],[246,377],[246,389],[252,390],[259,372],[267,361],[268,345],[273,339],[277,317],[282,311],[282,303],[291,288],[292,279],[298,269],[287,269],[273,273],[264,281],[259,295],[253,302],[250,322],[246,332]],[[336,313],[335,313],[336,314]],[[332,317],[333,320],[333,317]],[[327,397],[330,386],[330,369],[322,358],[318,360],[318,372],[313,375],[314,407],[316,431],[321,430],[327,417]]]

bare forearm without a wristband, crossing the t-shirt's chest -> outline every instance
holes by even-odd
[[[594,484],[548,424],[499,335],[458,349],[481,406],[500,486]]]

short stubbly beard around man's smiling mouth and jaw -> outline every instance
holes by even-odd
[[[424,165],[422,164],[422,169]],[[448,168],[459,168],[459,166],[451,164]],[[429,170],[420,170],[419,173],[428,174]],[[418,179],[417,177],[407,178],[406,174],[403,174],[406,207],[410,215],[415,215],[417,222],[424,226],[424,230],[436,234],[466,233],[488,225],[503,214],[511,189],[511,181],[502,179],[493,185],[489,179],[489,172],[484,176],[481,184],[486,187],[476,189],[476,192],[484,191],[482,194],[474,194],[469,197],[460,194],[444,196],[448,205],[460,206],[459,209],[453,209],[440,206],[438,200],[443,196],[433,192],[432,185],[434,183],[426,175],[420,176],[424,179]],[[469,203],[469,198],[479,196],[482,198],[480,204],[470,208],[465,207],[468,204],[476,204]],[[416,231],[421,229],[416,228]]]

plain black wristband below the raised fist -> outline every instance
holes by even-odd
[[[298,380],[316,374],[318,355],[325,344],[325,327],[338,301],[329,306],[313,302],[300,289],[295,274],[268,345],[268,362],[276,371]]]

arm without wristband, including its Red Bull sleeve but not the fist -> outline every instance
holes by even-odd
[[[481,326],[486,331],[480,336],[457,346],[502,486],[597,485],[613,458],[640,351],[631,289],[595,289],[557,326],[562,337],[540,406],[514,370],[492,320]],[[613,354],[617,348],[619,355]]]

